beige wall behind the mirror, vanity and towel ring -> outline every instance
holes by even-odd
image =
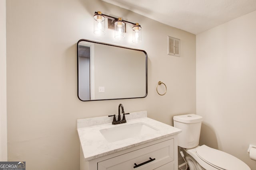
[[[148,117],[172,125],[172,117],[196,111],[196,36],[99,0],[8,0],[8,160],[27,170],[78,170],[76,120],[148,110]],[[142,25],[142,43],[114,32],[93,34],[94,11]],[[131,26],[129,26],[131,27]],[[181,39],[181,56],[167,55],[167,36]],[[79,39],[113,43],[148,53],[148,96],[81,102],[77,97],[76,44]],[[156,93],[158,81],[165,96]]]

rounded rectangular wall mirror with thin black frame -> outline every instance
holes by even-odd
[[[146,51],[80,39],[77,68],[82,101],[147,96]]]

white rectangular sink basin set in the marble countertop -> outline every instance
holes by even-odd
[[[100,133],[108,142],[120,141],[132,137],[143,137],[156,133],[158,129],[146,123],[134,123],[129,125],[116,125],[107,129],[100,129]]]

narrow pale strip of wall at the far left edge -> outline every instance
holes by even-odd
[[[6,161],[6,0],[0,1],[0,30],[0,161]]]

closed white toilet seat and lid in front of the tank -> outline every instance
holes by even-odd
[[[196,147],[196,155],[206,162],[220,170],[250,170],[249,166],[246,165],[242,160],[222,152],[217,149],[210,148],[206,145]]]

